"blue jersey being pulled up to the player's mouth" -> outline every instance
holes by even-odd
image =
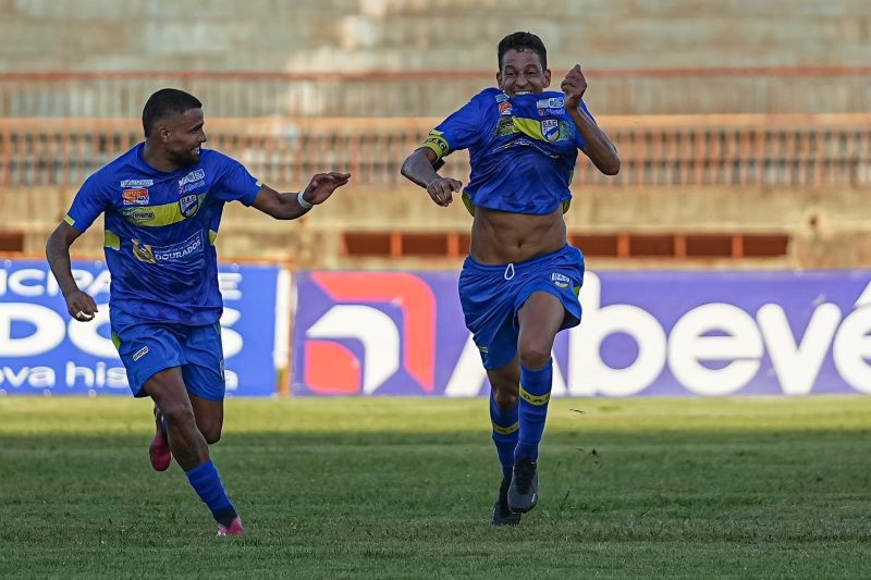
[[[584,138],[562,92],[508,97],[488,88],[432,129],[424,146],[439,159],[469,150],[464,197],[471,206],[543,214],[572,199],[568,185]]]

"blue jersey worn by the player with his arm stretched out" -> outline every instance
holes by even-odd
[[[109,305],[133,317],[191,325],[221,317],[214,238],[226,201],[250,206],[261,182],[203,149],[172,173],[148,165],[139,144],[88,177],[65,221],[84,232],[106,214]]]

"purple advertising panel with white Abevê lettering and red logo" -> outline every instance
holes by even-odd
[[[296,395],[478,396],[456,272],[299,272]],[[871,271],[588,272],[555,396],[871,393]]]

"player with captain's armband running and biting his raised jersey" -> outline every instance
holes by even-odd
[[[567,244],[563,213],[580,149],[608,175],[619,157],[581,97],[580,66],[551,83],[538,36],[514,33],[499,44],[499,88],[479,92],[429,133],[402,173],[447,207],[463,184],[437,170],[469,149],[463,201],[475,220],[459,275],[466,326],[491,385],[490,418],[502,483],[492,522],[517,525],[538,502],[539,443],[550,400],[551,350],[557,332],[580,322],[584,255]]]

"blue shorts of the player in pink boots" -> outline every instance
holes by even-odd
[[[154,322],[111,310],[112,342],[127,369],[134,397],[146,397],[146,381],[172,367],[182,368],[187,392],[209,400],[224,398],[221,326]]]

